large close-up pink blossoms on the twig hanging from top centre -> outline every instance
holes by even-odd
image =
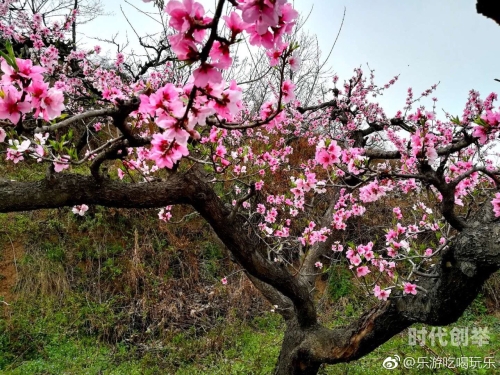
[[[283,56],[290,57],[288,63],[293,69],[298,67],[300,59],[293,56],[292,49],[282,42],[283,35],[291,33],[298,14],[286,0],[240,1],[236,10],[221,17],[229,35],[214,39],[214,32],[219,32],[219,19],[208,17],[200,3],[171,0],[166,4],[165,11],[170,16],[169,25],[176,31],[169,36],[172,50],[180,60],[199,62],[190,81],[182,89],[169,83],[152,94],[141,96],[139,113],[142,119],[153,120],[162,129],[161,134],[153,135],[147,157],[160,168],[172,168],[188,155],[189,138],[200,137],[196,126],[205,125],[207,118],[213,115],[233,121],[243,109],[242,89],[235,81],[227,84],[222,78],[222,71],[232,65],[230,47],[237,42],[240,33],[250,33],[251,44],[275,48]],[[208,37],[207,30],[212,30]],[[117,63],[120,61],[123,58],[119,56]],[[288,80],[282,83],[279,96],[282,103],[294,99],[293,89],[293,82]],[[116,94],[105,92],[110,100],[122,95],[121,91]],[[273,124],[279,121],[279,116],[275,117]],[[210,137],[202,139],[202,143],[217,143],[212,159],[218,165],[217,171],[222,173],[231,162],[226,155],[223,138],[216,140],[212,137],[213,133],[212,129]],[[271,169],[276,170],[277,165],[271,166]],[[238,172],[241,173],[241,169]]]

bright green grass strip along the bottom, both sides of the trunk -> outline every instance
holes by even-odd
[[[62,316],[54,317],[61,324]],[[25,322],[27,324],[27,322]],[[500,368],[500,321],[494,316],[481,315],[475,320],[465,315],[454,325],[464,328],[487,327],[490,342],[482,347],[441,346],[438,342],[425,346],[412,346],[406,332],[395,336],[370,355],[349,363],[324,366],[320,374],[366,375],[366,374],[494,374],[494,369],[406,369],[400,365],[392,371],[382,367],[385,358],[395,355],[402,360],[412,357],[494,357]],[[416,326],[421,328],[422,326]],[[56,324],[32,328],[32,347],[27,345],[24,353],[9,356],[0,351],[1,374],[179,374],[179,375],[226,375],[226,374],[271,374],[281,345],[283,323],[279,316],[267,313],[247,322],[233,322],[212,329],[204,335],[191,331],[179,333],[169,340],[151,340],[133,343],[104,344],[89,335],[56,333]],[[26,327],[25,327],[26,329]],[[427,327],[430,330],[430,327]],[[1,338],[1,334],[0,334]],[[5,344],[5,340],[1,344]],[[4,355],[2,361],[1,356]]]

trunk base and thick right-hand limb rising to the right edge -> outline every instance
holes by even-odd
[[[289,327],[276,374],[316,374],[321,363],[359,359],[414,323],[455,322],[500,268],[499,234],[500,223],[488,204],[443,254],[434,277],[421,277],[419,285],[427,293],[396,295],[348,327]]]

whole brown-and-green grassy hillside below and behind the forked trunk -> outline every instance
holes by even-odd
[[[177,210],[185,217],[178,225],[158,221],[154,210],[0,215],[0,373],[270,374],[281,318],[236,272],[207,225],[187,208]],[[220,279],[233,272],[223,286]],[[322,373],[385,374],[382,362],[394,355],[500,361],[498,285],[492,279],[454,325],[487,327],[489,344],[411,346],[405,332]],[[373,303],[343,268],[332,268],[318,290],[329,326]],[[496,371],[401,367],[391,373]]]

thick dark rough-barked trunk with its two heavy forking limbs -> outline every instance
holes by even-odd
[[[435,266],[420,277],[427,293],[391,299],[346,327],[328,329],[317,322],[313,296],[304,278],[271,262],[246,219],[232,215],[201,172],[176,173],[166,181],[124,183],[92,176],[58,174],[36,182],[0,182],[0,212],[98,204],[152,208],[189,204],[207,220],[271,301],[281,304],[287,328],[275,373],[316,374],[322,363],[361,358],[413,323],[455,322],[477,296],[484,281],[500,268],[500,223],[490,205],[469,220]]]

